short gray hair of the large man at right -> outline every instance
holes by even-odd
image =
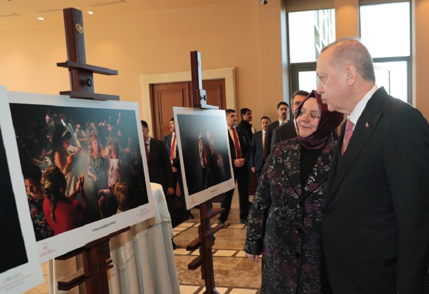
[[[340,70],[347,65],[354,65],[357,72],[365,81],[376,82],[374,64],[367,48],[355,38],[341,38],[321,50],[321,53],[331,48],[334,54],[331,65]]]

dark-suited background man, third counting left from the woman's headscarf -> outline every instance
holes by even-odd
[[[260,173],[265,163],[265,148],[266,148],[266,130],[271,123],[271,119],[267,116],[261,117],[262,130],[256,132],[252,139],[252,157],[250,158],[250,166],[252,172],[256,173],[256,180],[259,182]]]

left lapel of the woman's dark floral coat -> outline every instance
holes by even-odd
[[[289,141],[283,148],[283,168],[295,192],[302,196],[301,144],[298,139]]]

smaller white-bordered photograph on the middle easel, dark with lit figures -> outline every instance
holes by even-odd
[[[235,187],[224,110],[173,107],[186,208]]]

